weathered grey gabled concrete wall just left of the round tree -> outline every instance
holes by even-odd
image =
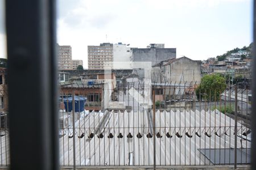
[[[201,62],[187,57],[163,66],[163,82],[201,82]]]

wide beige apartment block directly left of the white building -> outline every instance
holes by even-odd
[[[113,44],[88,45],[88,69],[102,70],[113,68]]]

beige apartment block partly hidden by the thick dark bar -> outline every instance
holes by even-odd
[[[59,70],[72,70],[72,48],[70,45],[58,45],[59,46]]]

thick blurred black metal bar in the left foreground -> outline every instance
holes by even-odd
[[[54,0],[6,1],[11,169],[59,168],[55,19]]]

